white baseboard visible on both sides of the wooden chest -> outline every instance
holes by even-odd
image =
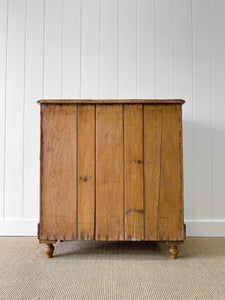
[[[38,220],[0,220],[0,236],[37,236]],[[185,220],[186,235],[225,237],[225,220]]]

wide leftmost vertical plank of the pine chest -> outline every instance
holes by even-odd
[[[77,105],[41,105],[42,240],[77,232]]]

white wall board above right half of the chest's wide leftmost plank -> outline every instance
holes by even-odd
[[[63,1],[62,98],[80,96],[80,22],[81,1]]]

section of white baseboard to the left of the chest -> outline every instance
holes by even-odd
[[[38,220],[0,220],[0,236],[37,236]]]

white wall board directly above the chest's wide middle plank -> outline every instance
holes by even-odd
[[[99,98],[117,98],[117,1],[100,1]]]

